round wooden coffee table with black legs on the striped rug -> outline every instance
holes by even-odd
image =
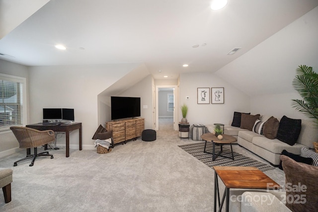
[[[220,140],[213,133],[205,133],[205,134],[201,135],[202,140],[205,140],[203,152],[212,154],[212,160],[213,161],[215,161],[215,159],[217,157],[219,157],[219,156],[234,160],[232,143],[236,142],[237,139],[235,137],[231,136],[231,135],[223,134],[222,136],[223,136],[223,139]],[[207,146],[207,142],[212,142],[213,143],[212,152],[205,151],[206,146]],[[221,150],[220,150],[220,152],[217,155],[215,154],[215,144],[217,144],[217,145],[219,144],[221,146]],[[221,155],[221,153],[223,152],[223,145],[224,144],[230,144],[231,145],[232,158],[230,158],[228,156],[225,156],[225,155]]]

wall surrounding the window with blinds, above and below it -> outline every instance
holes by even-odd
[[[26,86],[28,86],[28,68],[26,66],[0,60],[0,73],[24,77],[26,78]],[[26,88],[26,91],[28,92],[28,88]],[[26,115],[28,116],[28,111],[26,111]],[[0,157],[12,154],[19,150],[19,143],[11,130],[0,133]]]

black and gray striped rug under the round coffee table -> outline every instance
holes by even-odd
[[[212,155],[209,153],[203,152],[204,143],[205,142],[184,144],[184,145],[179,145],[179,147],[211,168],[212,166],[253,166],[258,168],[262,172],[275,169],[273,166],[261,163],[257,160],[246,157],[237,152],[233,152],[234,160],[219,156],[216,158],[215,161],[212,161]],[[211,142],[207,143],[206,151],[212,152]],[[220,146],[216,146],[215,152],[218,153],[219,151],[220,151]],[[228,148],[223,146],[222,154],[228,157],[232,157],[230,146]]]

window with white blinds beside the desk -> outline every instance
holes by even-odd
[[[25,79],[0,75],[0,131],[23,125],[23,87]]]

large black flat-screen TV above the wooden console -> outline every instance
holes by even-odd
[[[140,116],[140,97],[111,97],[111,119]]]

